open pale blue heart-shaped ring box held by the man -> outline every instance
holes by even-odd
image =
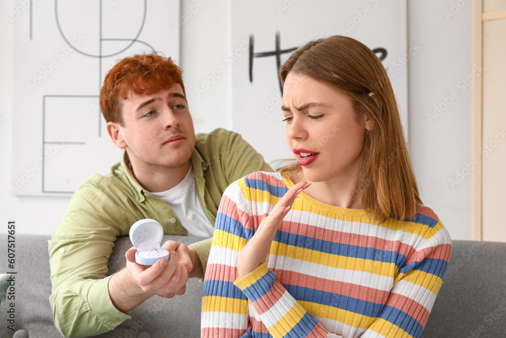
[[[138,220],[130,228],[130,241],[136,247],[135,261],[142,265],[153,265],[158,259],[168,260],[168,251],[162,249],[163,228],[151,218]]]

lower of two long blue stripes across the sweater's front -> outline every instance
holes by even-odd
[[[377,317],[385,306],[384,304],[367,302],[362,299],[310,287],[286,284],[283,284],[283,286],[298,301],[330,306],[369,317]]]

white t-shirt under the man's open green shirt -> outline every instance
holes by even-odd
[[[178,216],[188,236],[213,237],[215,227],[207,219],[195,191],[193,166],[185,178],[172,189],[150,193],[165,201]]]

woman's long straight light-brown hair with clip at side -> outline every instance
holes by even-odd
[[[358,194],[363,208],[379,222],[388,217],[415,217],[422,204],[403,136],[394,91],[381,61],[351,37],[334,35],[311,41],[294,52],[279,69],[284,84],[289,72],[304,74],[348,96],[357,121],[368,117]],[[290,163],[278,171],[293,176],[302,167]]]

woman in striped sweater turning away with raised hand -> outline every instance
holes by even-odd
[[[382,63],[331,36],[279,74],[297,162],[225,191],[202,336],[420,337],[451,241],[421,205]]]

